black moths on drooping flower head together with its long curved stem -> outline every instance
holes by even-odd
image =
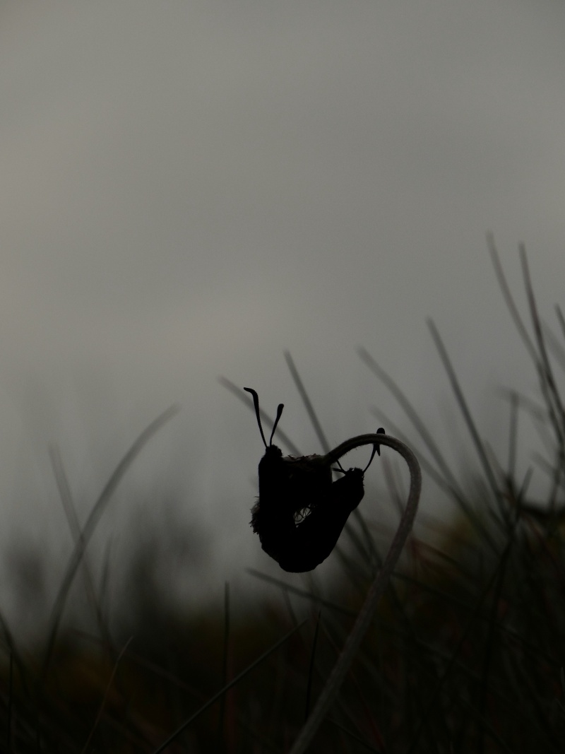
[[[331,554],[348,516],[362,501],[363,477],[375,453],[380,455],[381,444],[402,455],[410,472],[408,500],[389,551],[368,590],[365,603],[334,669],[290,751],[290,754],[304,754],[347,676],[371,625],[374,611],[392,577],[414,523],[422,489],[422,473],[411,449],[395,437],[385,434],[382,427],[376,433],[350,437],[325,455],[283,457],[281,450],[273,445],[273,435],[282,414],[282,403],[276,410],[267,446],[261,427],[258,394],[252,388],[243,389],[252,394],[265,446],[264,456],[259,461],[259,497],[252,508],[251,526],[259,535],[264,552],[276,560],[284,571],[312,571]],[[345,471],[339,464],[340,458],[365,445],[373,446],[365,469],[350,468]],[[339,470],[344,474],[335,481],[331,479],[332,464],[339,464]],[[304,510],[307,510],[305,515]]]

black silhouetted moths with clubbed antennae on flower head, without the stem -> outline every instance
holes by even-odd
[[[252,394],[255,415],[265,452],[259,461],[259,497],[252,507],[251,526],[259,535],[261,547],[279,566],[289,572],[312,571],[324,561],[337,544],[337,540],[350,516],[362,501],[365,491],[365,471],[374,458],[380,455],[375,444],[365,467],[341,468],[335,471],[343,477],[332,481],[332,469],[324,455],[283,456],[273,445],[273,435],[284,408],[276,409],[276,419],[265,440],[259,413],[259,397],[252,388],[243,388]],[[383,428],[377,430],[384,433]]]

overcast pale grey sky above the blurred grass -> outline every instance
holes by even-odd
[[[305,452],[319,444],[285,348],[332,443],[374,429],[373,405],[409,432],[364,345],[439,435],[450,397],[428,316],[481,430],[503,437],[494,388],[535,377],[485,235],[521,300],[525,242],[551,318],[564,39],[550,0],[2,2],[2,537],[68,552],[47,444],[84,520],[177,401],[127,484],[148,520],[178,484],[179,515],[215,522],[223,585],[234,553],[256,562],[262,445],[217,376],[286,403]]]

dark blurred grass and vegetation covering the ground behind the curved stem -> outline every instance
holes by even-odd
[[[481,464],[481,477],[469,489],[399,387],[361,352],[405,408],[412,426],[406,441],[427,478],[450,495],[455,513],[433,544],[416,536],[408,541],[361,651],[308,749],[313,754],[563,751],[565,410],[559,385],[565,320],[557,308],[558,335],[542,323],[522,251],[525,323],[492,244],[491,252],[539,395],[532,400],[509,389],[508,453],[503,461],[495,458],[466,405],[464,380],[430,323]],[[341,581],[330,594],[289,587],[282,572],[280,581],[253,574],[249,578],[270,582],[267,601],[236,618],[227,588],[223,610],[187,617],[137,578],[129,623],[110,631],[96,590],[90,593],[99,614],[96,631],[72,630],[60,620],[105,501],[167,417],[133,446],[83,531],[76,532],[75,553],[41,646],[22,650],[8,626],[0,627],[0,751],[283,754],[328,679],[385,551],[359,512],[343,537],[347,547],[334,553]],[[404,439],[380,418],[389,434]],[[536,429],[542,447],[531,468],[518,467],[523,423]],[[547,480],[543,499],[529,494],[533,467]],[[64,494],[63,480],[60,486]]]

